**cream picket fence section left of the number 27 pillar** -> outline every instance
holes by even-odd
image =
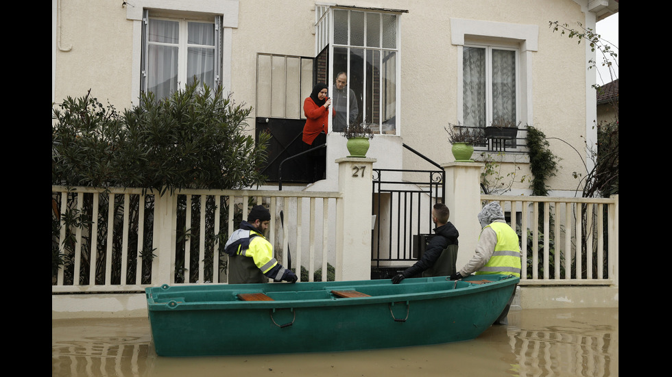
[[[223,244],[236,216],[239,221],[252,203],[274,215],[268,239],[276,257],[285,266],[293,257],[292,267],[303,265],[313,281],[315,270],[325,272],[333,256],[327,253],[336,242],[330,224],[337,220],[341,198],[334,192],[256,190],[180,190],[161,196],[141,189],[63,186],[52,186],[51,192],[52,219],[61,219],[52,248],[67,260],[52,274],[53,293],[143,291],[157,282],[225,283]],[[65,226],[80,214],[81,226]],[[322,280],[326,277],[322,273]]]

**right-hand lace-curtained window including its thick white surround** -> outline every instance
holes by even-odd
[[[493,120],[531,122],[532,60],[538,50],[538,25],[451,18],[451,43],[457,46],[457,120],[466,127],[488,127]],[[509,136],[507,136],[509,138]],[[517,140],[492,138],[490,150],[524,151],[525,131]]]

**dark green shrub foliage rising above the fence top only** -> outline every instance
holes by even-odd
[[[91,92],[52,105],[51,183],[97,187],[240,189],[260,185],[269,135],[246,129],[251,107],[221,88],[184,90],[119,114]]]

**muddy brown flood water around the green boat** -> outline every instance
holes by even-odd
[[[167,358],[147,318],[51,321],[52,376],[618,376],[619,309],[525,309],[477,339],[386,350]]]

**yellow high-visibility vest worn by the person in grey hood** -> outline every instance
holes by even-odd
[[[497,235],[497,244],[488,263],[476,275],[514,275],[520,277],[520,246],[518,235],[504,222],[493,222],[490,227]]]

